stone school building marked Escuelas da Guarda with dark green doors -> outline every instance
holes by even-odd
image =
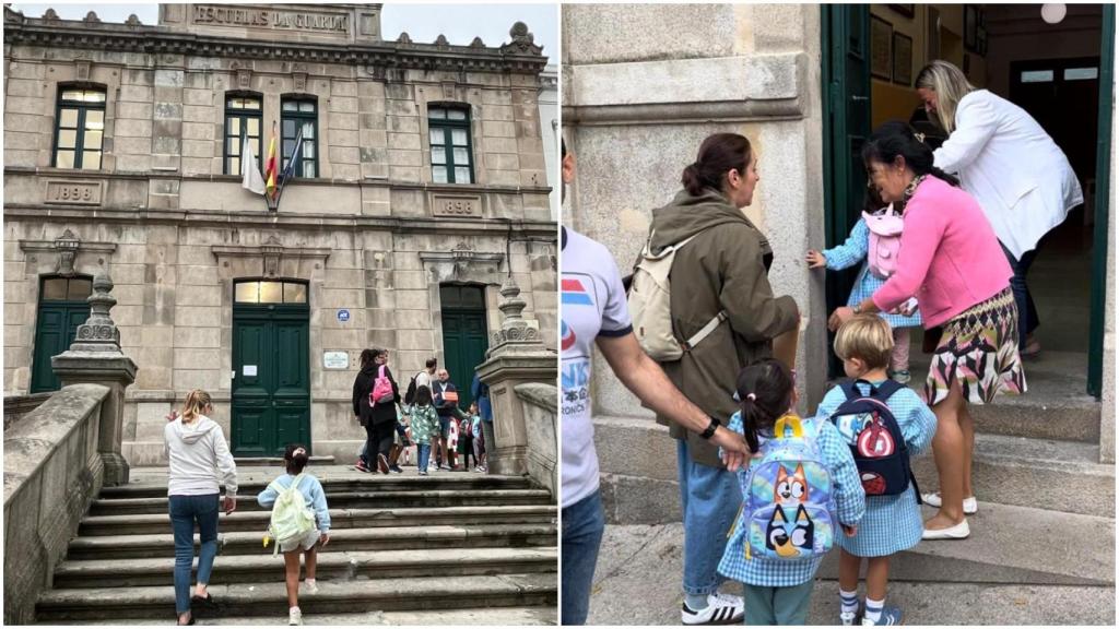
[[[163,460],[192,388],[237,456],[349,462],[368,347],[402,393],[436,356],[468,403],[510,274],[554,349],[547,59],[515,20],[459,46],[384,40],[380,4],[162,4],[157,26],[6,8],[4,394],[58,387],[102,271],[139,366],[132,466]],[[264,172],[273,138],[281,170],[301,143],[279,207],[242,186],[246,141]]]

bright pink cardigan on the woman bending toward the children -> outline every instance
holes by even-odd
[[[979,204],[930,176],[905,206],[897,271],[872,299],[888,311],[916,297],[932,328],[995,297],[1013,274]]]

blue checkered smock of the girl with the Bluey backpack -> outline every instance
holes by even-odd
[[[817,434],[817,445],[822,456],[822,463],[831,473],[831,482],[835,487],[836,518],[841,524],[856,525],[863,518],[865,509],[865,496],[863,484],[858,480],[858,470],[855,468],[855,459],[850,454],[850,448],[844,442],[843,436],[831,422],[819,421],[815,417],[801,420],[808,432],[808,425],[812,424]],[[728,430],[742,432],[742,413],[731,416]],[[765,435],[759,435],[759,441],[764,442]],[[751,467],[761,459],[754,459]],[[737,472],[741,485],[745,477],[750,476],[749,470],[740,469]],[[820,567],[822,556],[810,560],[780,561],[765,557],[752,556],[746,558],[745,546],[746,532],[749,527],[742,526],[743,514],[734,519],[734,527],[731,529],[726,550],[723,551],[723,560],[718,562],[718,573],[727,579],[733,579],[747,585],[762,588],[789,588],[800,585],[812,580],[816,570]],[[843,537],[843,532],[836,528],[836,538]]]

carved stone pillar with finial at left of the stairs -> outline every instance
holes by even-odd
[[[116,304],[109,291],[113,281],[104,271],[93,279],[90,295],[90,318],[77,327],[77,336],[68,350],[50,358],[63,386],[92,383],[107,386],[110,392],[101,405],[97,426],[97,451],[104,463],[104,485],[129,481],[129,463],[121,454],[121,431],[124,423],[124,389],[135,382],[137,365],[121,351],[121,332],[110,309]]]

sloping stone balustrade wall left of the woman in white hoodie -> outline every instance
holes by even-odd
[[[39,593],[101,491],[102,404],[110,387],[63,387],[4,431],[3,623],[35,620]]]

